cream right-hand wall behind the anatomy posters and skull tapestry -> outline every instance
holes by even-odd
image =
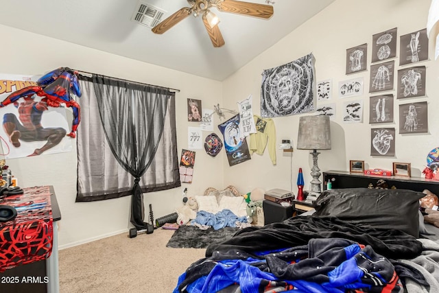
[[[398,47],[395,60],[395,86],[399,67],[399,36],[422,30],[427,24],[429,0],[337,0],[313,19],[298,27],[276,45],[254,58],[248,65],[224,81],[224,104],[235,106],[237,101],[252,94],[255,113],[260,113],[261,73],[278,65],[296,60],[309,53],[316,58],[316,80],[332,79],[333,99],[337,104],[337,117],[331,121],[332,150],[322,150],[318,156],[320,169],[349,170],[349,160],[365,161],[366,168],[392,169],[392,162],[412,163],[412,176],[421,176],[425,167],[427,153],[439,146],[439,106],[438,76],[439,63],[434,61],[434,40],[430,40],[429,56],[433,60],[416,65],[427,67],[427,97],[396,100],[394,102],[394,123],[383,127],[396,128],[396,150],[394,157],[370,156],[370,129],[377,127],[368,124],[369,75],[372,53],[372,35],[398,28]],[[276,11],[276,4],[274,4]],[[275,12],[276,13],[276,12]],[[345,74],[346,49],[368,43],[368,70],[351,75]],[[342,80],[364,77],[364,95],[340,99],[337,97],[337,84]],[[396,87],[395,87],[396,89]],[[388,91],[393,93],[396,91]],[[377,94],[375,94],[377,95]],[[342,103],[345,100],[364,99],[364,122],[345,124],[342,121]],[[408,102],[428,102],[429,132],[425,134],[399,134],[399,104]],[[322,103],[323,104],[323,103]],[[328,104],[328,103],[324,103]],[[298,120],[301,115],[276,117],[277,141],[292,139],[294,148],[298,133]],[[378,126],[381,127],[381,124]],[[305,176],[305,189],[311,181],[312,159],[307,150],[294,150],[291,153],[277,151],[277,165],[273,166],[268,151],[263,156],[254,154],[250,161],[234,167],[224,163],[224,182],[236,185],[239,189],[251,190],[261,187],[290,189],[297,192],[298,168],[302,167]]]

